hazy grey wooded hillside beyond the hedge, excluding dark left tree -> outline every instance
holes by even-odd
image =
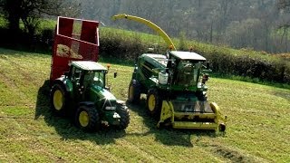
[[[132,14],[160,25],[171,37],[250,48],[268,53],[289,52],[289,0],[83,0],[82,17],[107,26],[150,33],[146,26],[112,22],[111,15]]]

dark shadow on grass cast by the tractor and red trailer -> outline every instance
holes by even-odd
[[[70,118],[57,117],[50,109],[50,86],[49,81],[43,82],[39,88],[35,106],[34,120],[43,117],[48,126],[52,126],[62,139],[82,139],[91,140],[99,145],[115,143],[115,139],[126,135],[123,130],[102,129],[97,132],[87,133],[73,125]]]

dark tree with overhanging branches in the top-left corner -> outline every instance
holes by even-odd
[[[0,14],[8,21],[11,34],[18,34],[20,20],[29,34],[35,33],[39,18],[44,15],[77,15],[80,4],[68,0],[0,0]]]

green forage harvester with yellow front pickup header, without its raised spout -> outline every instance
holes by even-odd
[[[159,120],[158,127],[224,131],[227,117],[208,102],[208,66],[198,53],[144,53],[135,65],[128,100],[138,103],[146,94],[146,108]]]

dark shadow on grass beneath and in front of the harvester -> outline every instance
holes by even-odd
[[[155,140],[167,146],[182,146],[193,147],[191,137],[210,137],[218,136],[215,130],[201,130],[201,129],[172,129],[171,127],[158,128],[158,120],[150,117],[148,110],[146,110],[146,100],[142,99],[139,105],[131,104],[127,101],[127,106],[134,112],[137,112],[143,118],[143,124],[150,130],[143,134],[128,133],[127,135],[146,136],[153,134]],[[194,142],[195,143],[195,142]]]

